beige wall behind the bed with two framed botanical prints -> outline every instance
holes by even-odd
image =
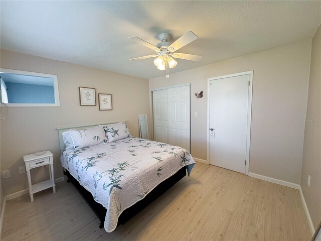
[[[26,174],[18,172],[26,154],[50,150],[55,178],[63,175],[57,127],[124,120],[131,134],[139,137],[138,114],[149,111],[147,79],[3,49],[1,67],[56,74],[60,94],[60,107],[8,108],[8,118],[1,123],[1,168],[11,170],[11,178],[2,180],[6,195],[28,188]],[[96,88],[96,94],[112,94],[113,110],[80,106],[79,86]],[[39,170],[32,171],[34,179],[43,178]]]

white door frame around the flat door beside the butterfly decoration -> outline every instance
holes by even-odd
[[[249,86],[249,99],[248,99],[248,112],[247,112],[247,140],[246,140],[246,166],[245,166],[245,175],[249,175],[249,166],[250,166],[250,144],[251,144],[251,118],[252,118],[252,92],[253,92],[253,70],[222,75],[217,77],[211,77],[207,79],[207,164],[210,164],[210,83],[212,80],[216,79],[225,79],[230,77],[249,75],[250,86]]]

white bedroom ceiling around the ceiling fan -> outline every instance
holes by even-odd
[[[311,39],[320,22],[321,1],[1,1],[1,48],[152,78],[165,71],[129,59],[154,52],[128,37],[193,31],[179,52],[203,58],[173,73]]]

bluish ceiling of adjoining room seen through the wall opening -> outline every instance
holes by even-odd
[[[53,78],[23,75],[23,74],[13,74],[13,73],[1,73],[0,76],[7,83],[17,83],[17,84],[35,84],[35,85],[45,85],[54,86]]]

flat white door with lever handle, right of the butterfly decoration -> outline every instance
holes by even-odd
[[[210,164],[245,173],[249,75],[210,81]]]

